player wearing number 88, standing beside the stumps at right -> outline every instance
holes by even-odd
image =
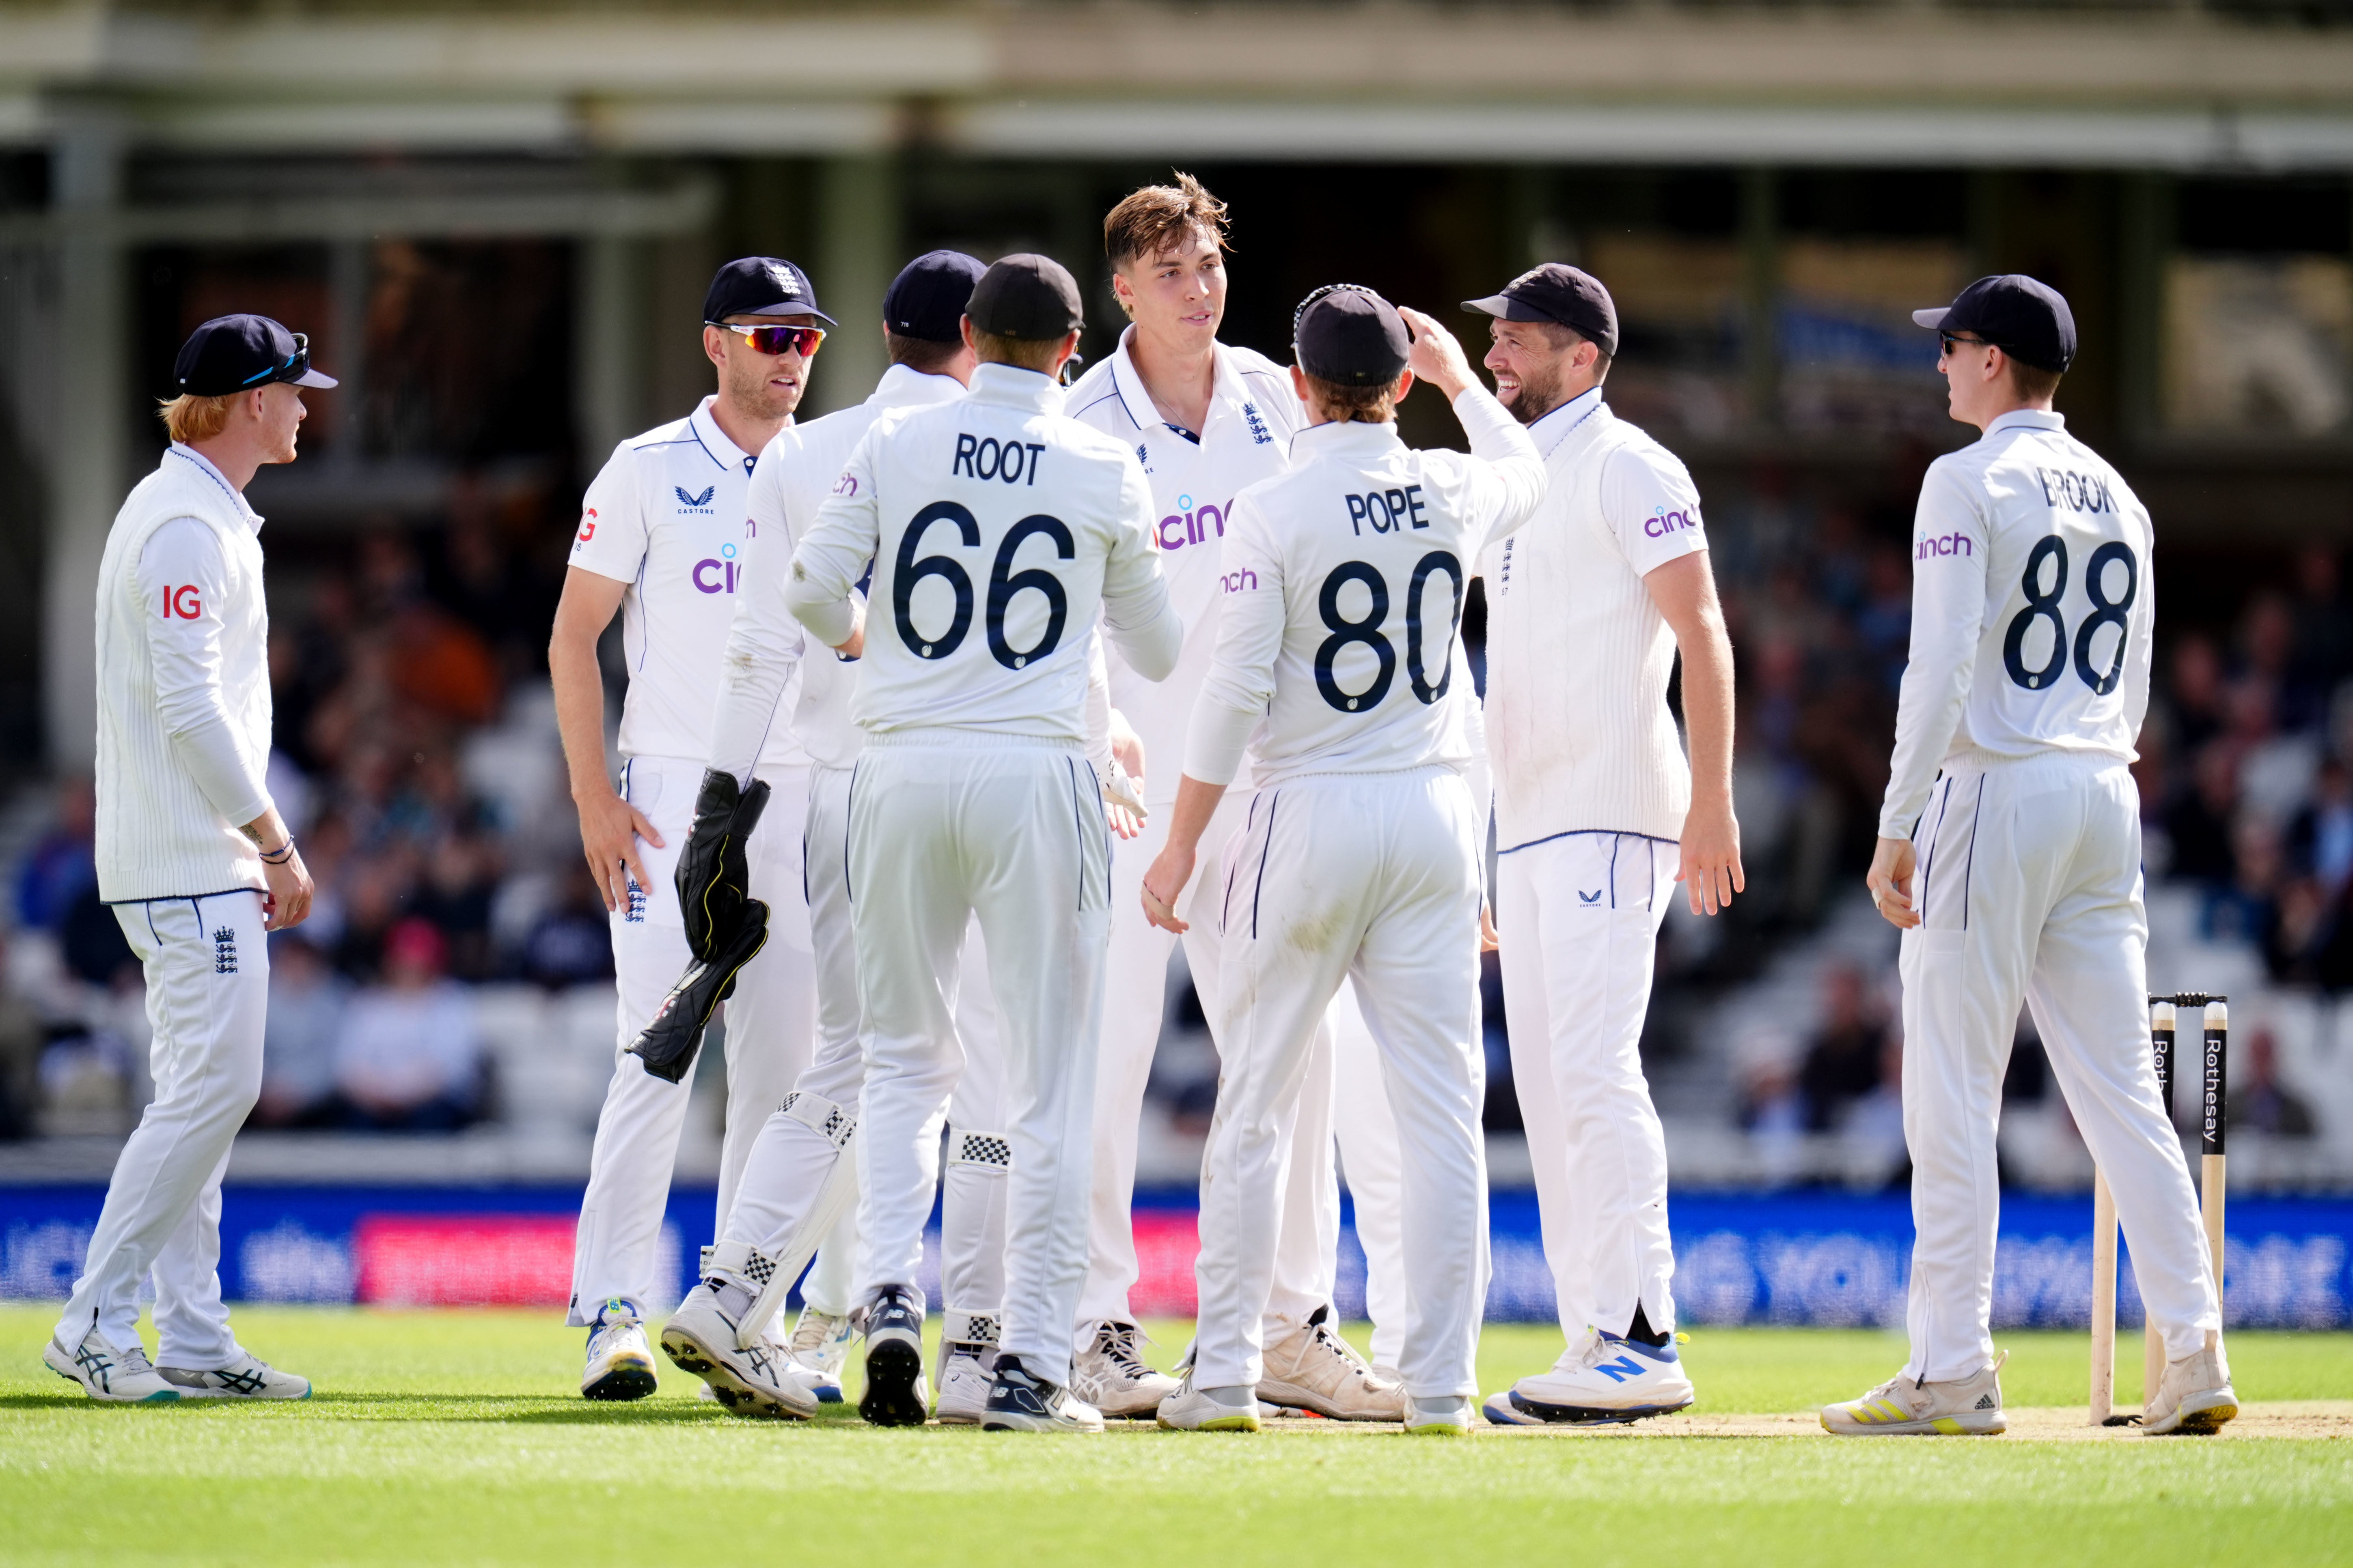
[[[1871,898],[1904,931],[1911,1356],[1821,1410],[1840,1436],[2002,1432],[1993,1354],[1993,1133],[2033,1009],[2108,1175],[2165,1378],[2144,1432],[2238,1415],[2188,1164],[2148,1056],[2134,738],[2148,712],[2148,510],[2052,411],[2075,317],[2024,275],[1979,277],[1937,329],[1951,411],[1984,435],[1929,463],[1913,635]]]

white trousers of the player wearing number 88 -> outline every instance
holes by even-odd
[[[1904,1143],[1913,1159],[1906,1378],[1993,1361],[1993,1152],[2019,999],[2108,1175],[2167,1359],[2221,1328],[2198,1199],[2148,1056],[2141,804],[2115,757],[1946,764],[1913,844],[1904,933]]]

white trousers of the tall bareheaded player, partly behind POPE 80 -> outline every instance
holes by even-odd
[[[1217,1034],[1217,985],[1219,985],[1219,900],[1224,898],[1226,846],[1247,813],[1247,797],[1228,795],[1209,818],[1200,839],[1198,870],[1193,884],[1176,896],[1191,931],[1184,933],[1186,966],[1193,973],[1193,992],[1200,1011],[1212,1020]],[[1094,1081],[1094,1194],[1087,1211],[1087,1286],[1078,1300],[1075,1338],[1080,1345],[1094,1338],[1101,1319],[1134,1321],[1127,1293],[1141,1269],[1136,1267],[1134,1192],[1136,1192],[1136,1138],[1144,1119],[1144,1091],[1153,1072],[1153,1051],[1160,1044],[1160,1025],[1167,1016],[1167,969],[1169,950],[1176,945],[1174,931],[1162,931],[1144,917],[1144,872],[1167,844],[1169,811],[1160,811],[1146,830],[1113,846],[1111,858],[1111,952],[1104,964],[1104,1053]],[[1386,1121],[1386,1103],[1379,1088],[1367,1100],[1360,1084],[1339,1086],[1344,1105],[1334,1105],[1337,1051],[1348,1056],[1348,1065],[1365,1072],[1372,1065],[1372,1034],[1355,1011],[1355,994],[1341,985],[1341,994],[1329,1009],[1329,1018],[1315,1032],[1308,1048],[1306,1079],[1299,1095],[1299,1112],[1282,1128],[1285,1152],[1285,1199],[1282,1227],[1275,1241],[1275,1281],[1266,1300],[1268,1333],[1280,1333],[1282,1324],[1306,1321],[1315,1307],[1332,1300],[1337,1248],[1339,1248],[1339,1182],[1332,1164],[1332,1135],[1339,1133],[1348,1159],[1348,1180],[1355,1187],[1358,1171],[1379,1180],[1381,1171],[1393,1173],[1398,1157],[1395,1126]],[[1374,1107],[1381,1114],[1360,1114]],[[1337,1114],[1341,1112],[1341,1114]],[[1391,1192],[1393,1197],[1393,1192]],[[1365,1199],[1358,1199],[1358,1237],[1365,1237]],[[1388,1220],[1384,1229],[1384,1220]],[[1374,1239],[1367,1241],[1367,1258],[1379,1253],[1372,1269],[1381,1286],[1388,1286],[1395,1269],[1393,1248],[1384,1246],[1395,1232],[1393,1215],[1374,1218]],[[1367,1298],[1372,1288],[1367,1286]],[[1384,1300],[1393,1293],[1384,1291]],[[1402,1298],[1395,1298],[1402,1302]],[[1379,1316],[1377,1316],[1379,1321]],[[1402,1331],[1402,1321],[1391,1314],[1391,1324]],[[1381,1335],[1374,1335],[1377,1345]]]

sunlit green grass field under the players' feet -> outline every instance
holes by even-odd
[[[2353,1436],[2329,1436],[2353,1434],[2353,1335],[2235,1335],[2249,1406],[2219,1439],[2082,1434],[2085,1338],[2017,1333],[2009,1436],[1831,1441],[1807,1410],[1901,1342],[1769,1328],[1694,1333],[1699,1408],[1633,1434],[1042,1439],[751,1422],[668,1371],[591,1406],[581,1335],[518,1312],[252,1307],[242,1340],[308,1373],[308,1403],[94,1406],[38,1361],[52,1314],[0,1309],[5,1563],[2353,1561]],[[1184,1326],[1155,1331],[1174,1359]],[[1489,1328],[1482,1385],[1555,1352]]]

